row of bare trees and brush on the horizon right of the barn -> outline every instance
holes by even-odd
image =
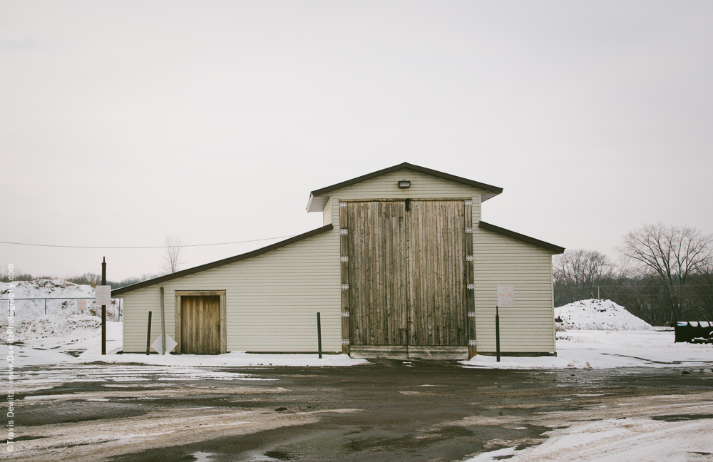
[[[697,228],[645,225],[616,248],[566,250],[553,260],[555,307],[610,299],[654,326],[713,322],[713,235]]]

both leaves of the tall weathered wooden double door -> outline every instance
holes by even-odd
[[[462,200],[348,202],[351,344],[468,344]]]

